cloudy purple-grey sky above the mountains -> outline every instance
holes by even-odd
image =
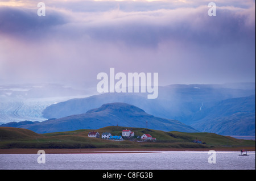
[[[160,86],[255,82],[255,1],[0,0],[0,84],[96,88],[110,68]]]

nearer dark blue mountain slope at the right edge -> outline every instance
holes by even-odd
[[[201,132],[255,136],[255,95],[223,100],[195,113],[192,120]]]

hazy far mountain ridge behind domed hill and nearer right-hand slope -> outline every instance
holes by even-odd
[[[70,99],[52,104],[43,111],[46,118],[60,118],[85,113],[102,104],[123,102],[142,108],[151,115],[191,123],[191,116],[203,108],[218,102],[255,94],[255,83],[224,85],[170,85],[159,87],[157,99],[147,99],[146,94],[106,93],[88,98]]]

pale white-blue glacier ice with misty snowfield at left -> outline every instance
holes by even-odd
[[[86,95],[92,95],[90,89],[53,83],[0,85],[0,122],[44,121],[42,111],[47,106]]]

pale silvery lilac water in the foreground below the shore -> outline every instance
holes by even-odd
[[[0,154],[0,169],[255,170],[255,151],[249,151],[249,156],[239,154],[238,151],[217,151],[216,163],[208,163],[208,151],[46,154],[46,163],[38,163],[37,154]]]

